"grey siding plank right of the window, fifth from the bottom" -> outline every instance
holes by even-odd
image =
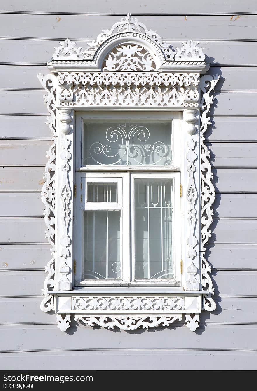
[[[257,269],[257,245],[208,245],[206,255],[216,269]]]

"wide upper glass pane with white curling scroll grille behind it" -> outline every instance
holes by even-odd
[[[172,122],[85,122],[84,165],[171,166]]]

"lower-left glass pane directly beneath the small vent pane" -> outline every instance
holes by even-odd
[[[84,215],[84,278],[121,279],[121,212],[86,211]]]

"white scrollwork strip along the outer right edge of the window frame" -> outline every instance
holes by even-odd
[[[200,79],[201,90],[201,126],[200,126],[200,178],[201,178],[201,260],[202,260],[202,287],[206,290],[206,294],[203,295],[203,307],[207,311],[213,311],[216,308],[216,303],[212,296],[214,295],[213,282],[211,280],[211,266],[205,258],[206,243],[211,237],[211,231],[209,227],[211,225],[213,209],[211,206],[215,199],[215,189],[212,183],[213,174],[211,172],[211,164],[209,162],[210,152],[205,145],[204,133],[207,130],[208,125],[211,124],[208,111],[213,103],[213,91],[214,86],[218,83],[220,76],[204,75]]]

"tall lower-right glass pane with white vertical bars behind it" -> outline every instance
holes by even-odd
[[[172,181],[135,179],[135,278],[173,278]]]

